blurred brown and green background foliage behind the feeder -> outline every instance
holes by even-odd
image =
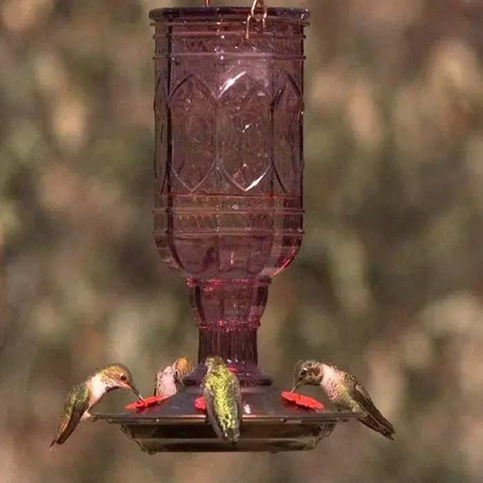
[[[48,452],[92,368],[125,362],[149,394],[196,356],[150,233],[148,10],[201,4],[0,1],[1,482],[481,482],[481,0],[268,1],[312,17],[306,237],[273,281],[260,366],[282,387],[300,357],[353,371],[395,442],[351,422],[306,453],[149,456],[97,422]]]

